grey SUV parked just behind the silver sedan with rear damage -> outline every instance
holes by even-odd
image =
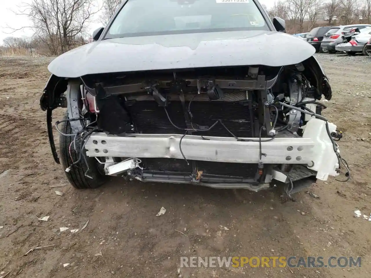
[[[335,46],[339,43],[344,43],[342,36],[349,33],[352,29],[358,28],[362,30],[366,27],[370,27],[371,24],[351,24],[337,26],[330,29],[326,34],[321,43],[321,52],[335,53]]]

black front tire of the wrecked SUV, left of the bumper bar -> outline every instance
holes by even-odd
[[[64,119],[68,119],[68,112],[66,112]],[[71,134],[71,126],[69,122],[62,122],[60,124],[60,131],[65,134]],[[86,188],[97,188],[101,186],[105,181],[107,181],[108,176],[104,175],[103,169],[98,168],[98,162],[95,158],[90,158],[86,156],[85,150],[83,150],[82,155],[85,156],[86,161],[89,165],[89,172],[88,175],[92,177],[92,179],[85,176],[85,172],[87,170],[85,161],[82,159],[80,163],[75,166],[72,166],[69,172],[66,172],[65,169],[68,168],[72,164],[72,160],[70,157],[69,146],[70,143],[73,141],[73,136],[59,136],[59,152],[60,152],[60,160],[62,161],[63,172],[65,172],[68,181],[74,188],[77,189],[86,189]],[[78,146],[76,145],[76,148]],[[79,151],[75,151],[72,147],[71,156],[73,161],[77,161],[79,159]],[[101,166],[101,168],[103,168]]]

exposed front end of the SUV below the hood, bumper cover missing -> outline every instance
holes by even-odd
[[[322,116],[326,106],[319,100],[331,99],[332,93],[314,57],[282,67],[107,73],[58,82],[66,93],[58,96],[57,106],[68,108],[81,148],[108,175],[251,189],[280,181],[277,173],[285,173],[281,182],[291,187],[300,179],[325,180],[345,165],[335,143],[341,132]],[[311,132],[304,135],[311,120]],[[324,130],[319,139],[316,129]],[[228,140],[237,142],[234,149]],[[334,164],[321,172],[322,162],[309,149],[321,153],[318,146],[324,144]],[[245,149],[251,151],[241,157],[235,152]],[[287,178],[290,172],[295,175]]]

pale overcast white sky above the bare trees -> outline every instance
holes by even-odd
[[[98,5],[102,5],[103,0],[97,0]],[[12,37],[29,37],[32,36],[33,30],[29,28],[24,28],[23,30],[16,31],[14,33],[13,29],[19,29],[24,26],[30,26],[30,20],[27,16],[17,15],[14,12],[22,10],[22,6],[30,3],[31,0],[2,0],[0,9],[0,44],[3,44],[3,39],[9,36]],[[275,0],[260,0],[261,4],[265,4],[268,8],[272,7]],[[9,29],[7,27],[13,29]],[[102,24],[99,23],[99,13],[95,14],[91,22],[87,24],[88,32],[92,33],[95,29],[101,27]],[[11,33],[11,34],[9,34]]]

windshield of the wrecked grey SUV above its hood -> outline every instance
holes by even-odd
[[[128,0],[105,36],[269,30],[252,0]]]

